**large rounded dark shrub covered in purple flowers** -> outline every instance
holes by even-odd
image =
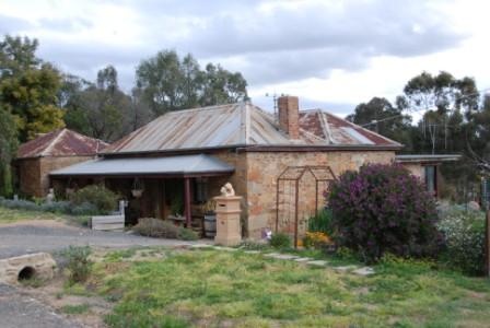
[[[368,164],[346,172],[326,195],[334,238],[365,261],[383,254],[434,256],[441,244],[433,197],[399,165]]]

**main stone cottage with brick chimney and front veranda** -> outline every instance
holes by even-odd
[[[188,224],[231,181],[244,199],[244,235],[259,237],[278,219],[279,229],[291,231],[295,212],[303,220],[315,213],[315,199],[323,201],[328,184],[316,184],[311,171],[299,179],[295,201],[295,181],[279,179],[289,167],[317,167],[325,183],[364,163],[390,163],[401,148],[320,109],[300,110],[298,97],[283,96],[276,116],[249,102],[166,113],[101,159],[54,171],[51,179],[60,188],[68,179],[103,181],[128,199],[130,222],[182,213]]]

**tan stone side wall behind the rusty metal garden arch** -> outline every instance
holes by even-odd
[[[342,172],[358,169],[362,164],[390,163],[394,157],[393,151],[248,152],[246,156],[248,236],[259,238],[264,229],[273,230],[277,178],[285,167],[329,165],[338,177]],[[300,212],[303,215],[310,215],[315,211],[313,181],[312,177],[305,176],[300,186]],[[305,218],[300,218],[302,219]],[[285,230],[290,231],[292,227],[289,225]]]

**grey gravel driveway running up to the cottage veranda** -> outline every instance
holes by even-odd
[[[178,246],[195,243],[203,242],[158,239],[124,232],[100,232],[48,220],[0,225],[0,259],[37,251],[55,253],[69,245],[127,248],[158,245]]]

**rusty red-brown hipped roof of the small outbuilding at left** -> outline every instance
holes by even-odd
[[[16,157],[92,156],[107,145],[102,140],[69,129],[58,129],[21,144]]]

